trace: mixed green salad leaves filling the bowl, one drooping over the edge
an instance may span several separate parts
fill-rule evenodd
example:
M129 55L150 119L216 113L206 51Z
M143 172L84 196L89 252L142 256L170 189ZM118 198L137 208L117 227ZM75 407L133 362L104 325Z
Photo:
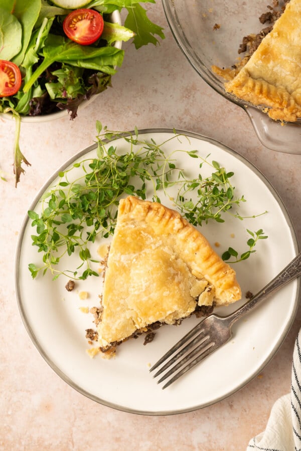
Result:
M20 90L0 97L0 113L12 113L20 121L22 116L66 109L74 119L79 105L110 86L116 68L121 67L124 51L114 47L114 42L132 39L139 49L165 38L163 29L147 18L141 3L146 0L92 0L85 8L103 15L104 31L94 44L81 46L63 32L64 18L71 10L50 0L0 0L0 60L15 63L22 74ZM109 15L122 9L127 12L124 26L111 24ZM22 163L29 164L20 150L19 137L20 123L14 148L16 186L24 172Z

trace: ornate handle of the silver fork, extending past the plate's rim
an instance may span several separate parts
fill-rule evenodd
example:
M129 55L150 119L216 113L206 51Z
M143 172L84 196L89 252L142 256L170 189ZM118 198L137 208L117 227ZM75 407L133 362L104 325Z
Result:
M273 280L271 280L271 282L262 288L262 290L252 296L249 301L227 317L229 327L231 327L232 324L244 314L252 310L256 305L260 304L268 296L300 275L301 253L299 253Z

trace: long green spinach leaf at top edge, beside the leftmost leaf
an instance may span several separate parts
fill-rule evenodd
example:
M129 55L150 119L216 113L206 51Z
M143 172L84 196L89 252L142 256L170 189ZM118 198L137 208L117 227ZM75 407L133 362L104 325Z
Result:
M41 0L31 0L30 2L27 0L15 1L14 16L19 20L23 29L21 51L12 60L17 66L20 66L23 61L40 10Z

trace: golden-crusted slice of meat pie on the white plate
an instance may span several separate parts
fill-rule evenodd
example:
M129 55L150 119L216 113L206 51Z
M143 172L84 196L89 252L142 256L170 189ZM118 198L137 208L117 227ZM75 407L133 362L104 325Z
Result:
M102 352L154 324L177 324L198 306L240 298L233 269L177 211L120 200L97 325Z

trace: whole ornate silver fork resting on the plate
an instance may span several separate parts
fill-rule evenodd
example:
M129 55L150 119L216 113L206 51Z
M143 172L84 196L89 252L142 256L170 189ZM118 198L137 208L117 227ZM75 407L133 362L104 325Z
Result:
M255 296L252 296L243 306L235 310L235 312L225 317L212 314L203 319L190 332L188 332L188 334L178 341L178 343L176 343L163 357L161 357L161 359L158 360L158 362L155 363L149 371L154 371L164 363L164 365L154 375L154 377L157 377L175 363L175 365L172 366L172 368L158 380L158 383L160 383L170 376L173 376L162 388L168 387L179 379L179 377L183 376L183 374L187 373L187 371L205 359L205 357L208 357L208 355L212 354L212 352L227 343L232 335L231 327L238 319L252 310L255 306L259 305L276 290L300 275L301 253L299 253L278 274L278 276L269 282ZM175 352L177 353L175 354ZM173 354L175 355L172 357ZM181 359L181 357L183 358ZM170 360L167 361L169 358Z

